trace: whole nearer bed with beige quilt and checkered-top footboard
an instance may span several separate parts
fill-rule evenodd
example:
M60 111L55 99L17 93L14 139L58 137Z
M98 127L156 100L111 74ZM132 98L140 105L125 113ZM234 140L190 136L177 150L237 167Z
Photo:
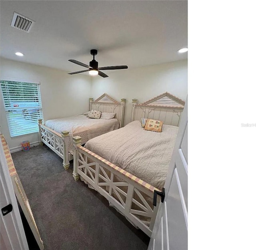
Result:
M184 101L164 93L137 105L131 123L90 139L73 137L73 177L108 199L134 226L151 236L157 209L154 191L162 190L178 133ZM163 121L162 132L146 131L141 118Z

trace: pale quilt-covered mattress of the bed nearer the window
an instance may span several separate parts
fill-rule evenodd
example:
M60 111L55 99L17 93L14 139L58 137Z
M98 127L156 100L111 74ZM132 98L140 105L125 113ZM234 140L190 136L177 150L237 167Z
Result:
M88 140L119 128L116 118L106 119L90 119L86 115L75 115L71 117L48 120L44 123L50 129L61 133L61 131L69 131L68 151L72 152L72 137L82 137L82 144Z

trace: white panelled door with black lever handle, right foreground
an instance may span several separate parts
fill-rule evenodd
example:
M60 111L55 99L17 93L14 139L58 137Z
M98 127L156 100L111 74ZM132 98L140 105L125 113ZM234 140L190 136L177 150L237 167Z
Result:
M188 98L148 250L188 249Z

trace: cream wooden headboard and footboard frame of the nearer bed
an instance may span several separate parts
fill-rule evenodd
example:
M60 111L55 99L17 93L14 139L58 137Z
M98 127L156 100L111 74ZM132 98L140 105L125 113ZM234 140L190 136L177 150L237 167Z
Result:
M133 99L132 121L144 117L161 119L164 124L176 126L179 125L185 104L167 92L139 105L136 103L137 99ZM82 147L81 137L73 137L73 143L74 179L78 181L80 177L102 194L134 226L151 236L160 198L157 198L154 208L152 200L154 190L160 190ZM148 217L149 224L146 224L141 216Z

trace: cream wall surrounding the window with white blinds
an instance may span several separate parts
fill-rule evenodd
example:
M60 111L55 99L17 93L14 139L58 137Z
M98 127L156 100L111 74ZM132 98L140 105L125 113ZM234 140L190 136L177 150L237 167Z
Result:
M16 62L1 58L2 77L40 81L44 120L76 115L89 110L91 77L68 75L66 71ZM9 148L20 146L22 141L38 141L38 134L10 137L4 104L1 97L0 125Z

